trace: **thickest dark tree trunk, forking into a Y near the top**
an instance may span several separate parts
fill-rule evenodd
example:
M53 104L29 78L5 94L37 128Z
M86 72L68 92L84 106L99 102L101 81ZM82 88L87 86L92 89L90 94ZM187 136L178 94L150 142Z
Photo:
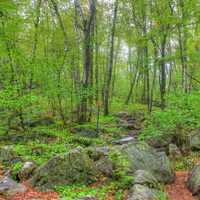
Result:
M75 9L82 18L81 29L83 31L83 80L82 80L82 95L80 103L80 122L90 120L91 116L88 113L88 102L91 103L92 94L91 84L93 82L93 34L94 34L94 21L96 15L96 0L89 1L89 16L87 18L83 14L82 7L79 0L75 0Z

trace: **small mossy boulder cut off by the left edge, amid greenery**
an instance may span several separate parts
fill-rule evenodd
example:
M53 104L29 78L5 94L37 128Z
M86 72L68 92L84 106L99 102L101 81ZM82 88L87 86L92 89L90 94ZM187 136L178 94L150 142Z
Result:
M0 148L0 162L15 162L19 161L17 153L13 150L11 145L3 146Z

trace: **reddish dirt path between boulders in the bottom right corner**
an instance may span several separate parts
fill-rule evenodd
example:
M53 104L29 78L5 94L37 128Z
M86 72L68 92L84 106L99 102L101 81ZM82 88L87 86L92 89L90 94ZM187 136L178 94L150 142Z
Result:
M169 200L197 200L186 187L187 178L188 172L176 172L175 183L166 188Z

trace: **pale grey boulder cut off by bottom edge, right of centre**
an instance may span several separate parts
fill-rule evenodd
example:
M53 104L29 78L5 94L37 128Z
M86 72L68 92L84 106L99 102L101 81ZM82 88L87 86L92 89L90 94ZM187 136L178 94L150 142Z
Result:
M147 186L136 184L129 193L127 200L156 200L158 199L157 191Z

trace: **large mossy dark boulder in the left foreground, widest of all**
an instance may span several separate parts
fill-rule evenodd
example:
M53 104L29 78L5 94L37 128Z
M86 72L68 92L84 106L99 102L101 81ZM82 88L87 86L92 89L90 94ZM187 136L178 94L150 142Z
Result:
M99 172L95 163L82 148L58 155L39 167L29 180L40 190L52 189L55 185L70 183L88 184L96 181Z

